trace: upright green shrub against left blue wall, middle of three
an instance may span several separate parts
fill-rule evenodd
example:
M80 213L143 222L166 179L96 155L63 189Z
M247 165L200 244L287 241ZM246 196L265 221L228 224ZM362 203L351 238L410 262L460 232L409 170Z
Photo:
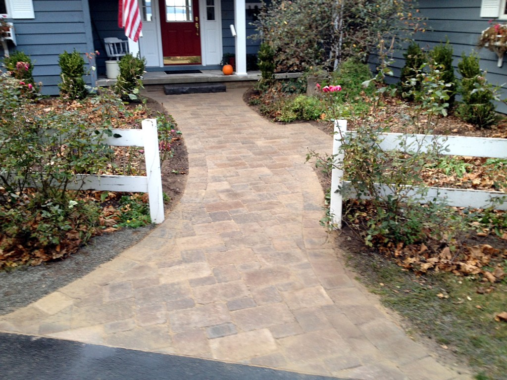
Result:
M64 99L84 99L88 95L83 75L85 74L85 60L79 52L64 51L59 55L58 65L61 69L60 95Z

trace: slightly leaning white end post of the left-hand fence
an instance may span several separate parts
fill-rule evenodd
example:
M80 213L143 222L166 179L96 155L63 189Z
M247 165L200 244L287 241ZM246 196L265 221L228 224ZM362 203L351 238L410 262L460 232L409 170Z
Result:
M146 159L146 175L148 177L150 216L152 223L159 224L164 221L164 200L162 196L157 121L155 119L145 119L142 121L141 126L144 132L144 157Z

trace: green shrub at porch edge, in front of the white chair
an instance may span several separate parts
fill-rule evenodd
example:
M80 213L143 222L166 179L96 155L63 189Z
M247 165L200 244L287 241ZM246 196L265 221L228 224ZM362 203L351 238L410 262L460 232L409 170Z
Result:
M137 100L137 94L142 88L141 78L146 67L146 59L141 59L139 54L134 57L129 53L120 59L118 65L120 66L120 74L116 79L113 91L122 100Z

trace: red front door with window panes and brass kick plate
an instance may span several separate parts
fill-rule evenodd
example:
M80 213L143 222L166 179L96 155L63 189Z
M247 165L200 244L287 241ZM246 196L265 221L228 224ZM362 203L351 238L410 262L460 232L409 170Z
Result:
M201 63L199 0L159 0L164 65Z

